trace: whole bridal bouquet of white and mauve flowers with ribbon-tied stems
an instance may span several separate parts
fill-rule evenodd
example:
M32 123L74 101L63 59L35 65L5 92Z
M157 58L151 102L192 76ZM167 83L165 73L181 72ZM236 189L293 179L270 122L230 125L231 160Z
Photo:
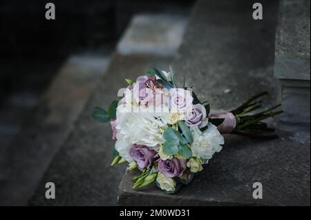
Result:
M201 102L191 88L176 86L174 72L156 67L135 81L125 79L128 86L119 91L121 99L112 101L104 110L95 107L92 117L110 122L115 140L111 165L129 163L128 170L139 169L133 188L156 182L166 193L187 185L194 174L203 170L225 143L226 133L254 138L276 138L262 135L274 132L263 119L282 111L261 108L266 92L257 94L230 112L210 114L207 101Z

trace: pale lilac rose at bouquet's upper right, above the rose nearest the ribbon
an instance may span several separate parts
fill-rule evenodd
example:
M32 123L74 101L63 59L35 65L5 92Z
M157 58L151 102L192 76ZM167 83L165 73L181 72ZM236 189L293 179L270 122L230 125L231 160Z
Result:
M192 101L194 98L191 96L189 90L182 88L172 88L169 90L169 109L171 112L187 112L192 108Z

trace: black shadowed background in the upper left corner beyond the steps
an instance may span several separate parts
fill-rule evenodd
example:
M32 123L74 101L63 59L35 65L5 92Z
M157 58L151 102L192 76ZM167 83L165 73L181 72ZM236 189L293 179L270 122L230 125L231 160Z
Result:
M56 19L46 20L45 5ZM184 12L193 1L0 1L0 107L10 94L40 94L68 54L113 50L133 14Z

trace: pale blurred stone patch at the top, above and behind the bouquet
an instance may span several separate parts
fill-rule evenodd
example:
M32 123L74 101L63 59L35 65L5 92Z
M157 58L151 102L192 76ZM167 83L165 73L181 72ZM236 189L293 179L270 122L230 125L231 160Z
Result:
M117 45L121 54L174 54L180 46L187 18L171 14L135 15Z

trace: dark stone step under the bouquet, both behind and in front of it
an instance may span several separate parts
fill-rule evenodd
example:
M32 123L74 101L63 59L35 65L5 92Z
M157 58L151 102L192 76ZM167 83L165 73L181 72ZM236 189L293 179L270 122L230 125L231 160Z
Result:
M185 30L176 74L185 74L200 100L230 110L267 90L276 103L273 77L278 1L261 1L263 20L252 19L250 1L197 1ZM228 92L230 91L230 92ZM275 123L275 122L274 122ZM303 205L310 206L310 130L278 131L280 139L256 141L225 136L216 154L189 186L164 194L155 184L133 190L135 172L126 171L118 194L122 206ZM253 183L263 199L253 199Z

